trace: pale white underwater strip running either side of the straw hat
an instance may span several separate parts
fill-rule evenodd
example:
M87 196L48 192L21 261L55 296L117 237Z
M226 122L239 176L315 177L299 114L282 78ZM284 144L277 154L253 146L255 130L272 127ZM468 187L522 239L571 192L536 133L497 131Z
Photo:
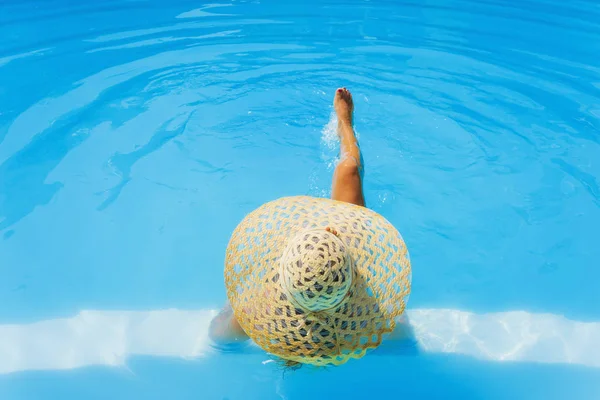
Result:
M82 311L72 318L0 325L0 373L124 366L132 356L215 357L216 310ZM511 311L409 310L373 356L454 353L486 361L600 368L600 322ZM414 346L413 346L414 344ZM243 351L242 351L243 350ZM244 352L261 352L249 343ZM265 361L268 355L265 354Z

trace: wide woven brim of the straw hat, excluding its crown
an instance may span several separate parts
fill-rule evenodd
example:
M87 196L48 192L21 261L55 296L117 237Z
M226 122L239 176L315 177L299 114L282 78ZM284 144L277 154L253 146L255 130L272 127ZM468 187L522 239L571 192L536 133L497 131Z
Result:
M297 310L281 288L279 259L300 231L331 227L347 245L355 282L338 307ZM227 296L244 331L265 351L315 365L342 364L377 347L404 311L411 266L402 236L365 207L309 196L262 205L234 230L225 260Z

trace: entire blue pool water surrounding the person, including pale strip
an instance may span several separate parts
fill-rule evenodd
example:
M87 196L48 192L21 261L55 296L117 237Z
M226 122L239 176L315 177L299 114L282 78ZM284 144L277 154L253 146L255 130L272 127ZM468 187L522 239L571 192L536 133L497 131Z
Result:
M0 2L0 399L600 398L600 6ZM214 349L229 234L328 196L355 96L409 339Z

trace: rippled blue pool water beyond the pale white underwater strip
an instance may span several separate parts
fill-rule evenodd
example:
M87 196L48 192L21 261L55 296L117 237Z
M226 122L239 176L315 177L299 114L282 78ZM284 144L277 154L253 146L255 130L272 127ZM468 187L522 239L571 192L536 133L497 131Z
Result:
M251 205L328 195L341 85L356 95L367 201L415 255L414 301L599 317L582 284L600 279L599 17L555 0L8 2L0 285L44 294L0 290L0 318L105 301L89 282L50 290L49 264L65 282L103 262L149 276L144 254L172 279L169 300L196 299L194 279L217 287L218 268L193 275L180 235L220 265L206 232L225 241ZM89 265L75 267L77 249ZM143 296L129 282L111 298L160 292L147 279Z

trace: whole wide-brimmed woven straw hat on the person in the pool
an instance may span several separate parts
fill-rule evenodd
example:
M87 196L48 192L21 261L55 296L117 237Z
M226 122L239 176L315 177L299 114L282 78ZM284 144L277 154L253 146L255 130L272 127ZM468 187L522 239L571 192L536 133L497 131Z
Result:
M225 261L227 296L248 336L278 357L319 366L377 347L404 311L410 280L406 245L385 218L307 196L247 215Z

